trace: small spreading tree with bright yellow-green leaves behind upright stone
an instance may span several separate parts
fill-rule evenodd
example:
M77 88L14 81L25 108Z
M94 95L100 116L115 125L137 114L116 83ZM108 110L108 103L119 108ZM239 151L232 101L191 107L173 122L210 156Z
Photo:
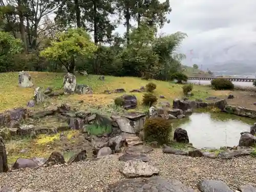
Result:
M69 29L56 35L56 39L51 41L51 46L42 50L40 56L60 62L68 72L74 73L77 59L93 57L96 49L87 32L80 28Z

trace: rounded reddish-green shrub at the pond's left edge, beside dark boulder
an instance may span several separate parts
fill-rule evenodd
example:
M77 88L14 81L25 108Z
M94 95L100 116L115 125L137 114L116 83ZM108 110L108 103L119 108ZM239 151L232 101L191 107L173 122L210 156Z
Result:
M150 118L146 120L143 131L145 141L167 144L172 133L172 122L161 117Z

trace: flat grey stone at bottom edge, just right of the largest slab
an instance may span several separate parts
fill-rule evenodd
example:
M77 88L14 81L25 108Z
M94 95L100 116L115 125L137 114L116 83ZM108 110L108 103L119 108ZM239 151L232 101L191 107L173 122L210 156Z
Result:
M202 180L197 184L201 192L232 192L232 190L220 180Z

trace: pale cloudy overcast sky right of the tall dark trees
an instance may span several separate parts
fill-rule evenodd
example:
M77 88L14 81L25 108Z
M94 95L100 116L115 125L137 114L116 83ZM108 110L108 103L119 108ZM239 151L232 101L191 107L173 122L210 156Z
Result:
M180 50L187 55L186 65L256 61L256 0L170 0L170 6L170 23L160 32L187 33Z

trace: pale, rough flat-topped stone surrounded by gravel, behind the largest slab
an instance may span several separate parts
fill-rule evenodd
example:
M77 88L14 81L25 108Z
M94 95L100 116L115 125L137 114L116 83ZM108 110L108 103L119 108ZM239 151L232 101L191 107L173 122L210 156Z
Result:
M159 169L143 161L122 161L119 171L127 178L150 177L159 174Z

